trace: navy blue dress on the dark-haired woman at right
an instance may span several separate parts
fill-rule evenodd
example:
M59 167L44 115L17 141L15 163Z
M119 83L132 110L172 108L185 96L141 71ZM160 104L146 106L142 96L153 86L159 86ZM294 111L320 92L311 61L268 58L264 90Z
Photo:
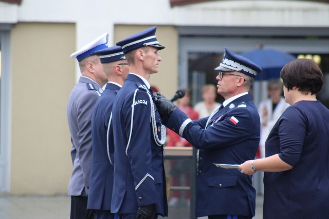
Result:
M329 217L329 110L319 101L288 107L265 143L293 169L264 174L263 218Z

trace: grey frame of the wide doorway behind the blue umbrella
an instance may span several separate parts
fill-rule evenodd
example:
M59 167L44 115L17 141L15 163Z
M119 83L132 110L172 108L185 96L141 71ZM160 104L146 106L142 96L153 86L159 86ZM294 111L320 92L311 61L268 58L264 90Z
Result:
M188 87L188 55L190 52L223 53L227 47L234 53L263 48L288 53L328 54L329 28L327 27L201 27L179 26L178 87ZM218 63L219 65L219 63ZM215 68L216 66L214 66ZM267 94L266 83L253 83L255 104L261 93ZM262 91L262 92L261 92Z

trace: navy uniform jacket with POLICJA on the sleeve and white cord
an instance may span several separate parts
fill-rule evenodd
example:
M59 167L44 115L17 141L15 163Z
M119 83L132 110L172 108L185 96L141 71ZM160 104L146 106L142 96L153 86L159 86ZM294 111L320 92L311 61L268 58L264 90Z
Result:
M156 106L152 96L141 78L129 74L113 105L114 213L136 214L139 206L156 204L157 214L168 215L163 151L155 142L155 134L160 136L161 118L155 111L154 132L151 105L155 110Z

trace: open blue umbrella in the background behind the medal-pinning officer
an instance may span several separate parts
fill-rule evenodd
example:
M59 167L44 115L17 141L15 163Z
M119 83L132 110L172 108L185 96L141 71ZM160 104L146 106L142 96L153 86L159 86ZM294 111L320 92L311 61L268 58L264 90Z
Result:
M279 78L283 66L296 59L294 55L275 49L255 49L240 55L248 58L263 69L262 73L255 77L255 80Z

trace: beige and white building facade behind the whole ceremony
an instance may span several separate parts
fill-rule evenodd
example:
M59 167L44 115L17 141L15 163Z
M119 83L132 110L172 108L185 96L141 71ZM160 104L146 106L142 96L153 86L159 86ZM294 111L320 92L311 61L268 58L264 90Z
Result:
M200 86L215 83L224 47L258 45L320 56L329 97L329 1L0 1L0 192L66 193L66 104L80 76L69 55L104 32L112 46L151 26L166 49L150 83L167 97L190 87L197 101Z

